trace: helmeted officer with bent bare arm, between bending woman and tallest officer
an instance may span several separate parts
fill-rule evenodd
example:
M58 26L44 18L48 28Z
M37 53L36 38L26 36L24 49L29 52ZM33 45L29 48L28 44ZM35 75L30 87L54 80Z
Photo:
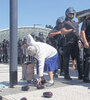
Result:
M51 45L55 47L58 50L59 53L59 58L60 58L60 68L61 68L61 73L63 73L63 34L66 34L68 32L71 32L72 29L70 30L62 30L63 27L63 22L64 18L59 17L56 20L56 26L50 31L48 37L51 41ZM62 30L62 31L61 31ZM54 76L58 77L58 71L54 71Z

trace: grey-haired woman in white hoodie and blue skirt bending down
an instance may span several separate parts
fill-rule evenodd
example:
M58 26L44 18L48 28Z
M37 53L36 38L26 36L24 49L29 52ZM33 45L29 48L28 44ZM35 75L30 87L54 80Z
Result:
M37 84L41 84L43 73L47 71L49 81L46 86L54 85L53 71L59 66L57 50L49 44L34 41L30 34L27 36L27 45L28 55L34 56L38 60L39 78Z

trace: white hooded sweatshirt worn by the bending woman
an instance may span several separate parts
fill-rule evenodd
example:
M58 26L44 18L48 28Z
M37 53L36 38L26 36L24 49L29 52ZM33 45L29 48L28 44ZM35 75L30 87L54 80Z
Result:
M37 53L34 56L39 62L39 76L43 76L45 60L57 54L57 50L49 44L43 42L36 42L29 34L27 36L27 44L33 45L37 48Z

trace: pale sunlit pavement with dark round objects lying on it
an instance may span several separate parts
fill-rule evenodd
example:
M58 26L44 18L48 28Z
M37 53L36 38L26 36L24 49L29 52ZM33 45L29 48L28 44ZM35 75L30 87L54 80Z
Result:
M3 100L20 100L26 97L27 100L90 100L90 83L84 83L78 80L77 70L73 71L70 67L70 75L72 80L65 80L63 76L54 78L54 85L38 90L33 84L29 84L28 91L22 91L21 87L27 85L27 81L22 80L22 67L18 66L18 84L14 88L9 87L9 65L0 64L0 84L5 85L3 90L0 90L0 96ZM48 79L47 73L44 73ZM35 72L35 78L37 78ZM43 97L43 92L51 91L51 98Z

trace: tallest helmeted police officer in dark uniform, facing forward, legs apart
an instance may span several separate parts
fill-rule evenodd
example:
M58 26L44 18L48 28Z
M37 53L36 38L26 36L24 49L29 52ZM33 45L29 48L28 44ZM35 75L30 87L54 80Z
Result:
M64 78L71 80L72 78L69 75L69 59L70 55L73 52L74 57L77 62L78 68L78 79L82 79L82 67L80 64L80 56L79 56L79 31L78 31L78 23L73 21L75 10L69 7L65 12L66 18L64 22L64 28L73 29L72 32L65 35L65 44L64 44Z

